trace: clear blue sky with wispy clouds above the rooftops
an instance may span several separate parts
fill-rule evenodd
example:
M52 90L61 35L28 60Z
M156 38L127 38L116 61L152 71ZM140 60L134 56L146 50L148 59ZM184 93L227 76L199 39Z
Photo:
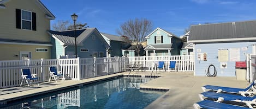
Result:
M163 28L183 35L189 25L256 20L255 0L181 0L181 1L96 1L96 0L41 0L58 20L88 23L100 32L115 34L120 24L134 18L147 18L153 29Z

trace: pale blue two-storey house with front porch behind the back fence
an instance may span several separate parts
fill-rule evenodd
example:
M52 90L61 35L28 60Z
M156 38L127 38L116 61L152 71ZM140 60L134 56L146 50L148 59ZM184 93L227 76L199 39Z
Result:
M147 37L146 56L180 55L182 40L161 28L152 31Z

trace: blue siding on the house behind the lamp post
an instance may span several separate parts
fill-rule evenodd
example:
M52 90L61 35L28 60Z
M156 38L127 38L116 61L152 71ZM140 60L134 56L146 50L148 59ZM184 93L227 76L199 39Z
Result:
M95 35L95 39L93 40L92 35ZM93 57L94 53L98 54L99 57L99 53L103 53L103 56L106 57L106 45L103 42L102 39L100 39L100 37L102 37L100 34L98 34L96 31L94 31L93 34L91 34L90 36L87 37L87 39L84 40L83 42L83 46L78 46L78 56L81 58L87 58L87 57ZM88 49L88 52L80 52L81 48L85 48ZM74 52L75 51L75 46L68 46L67 48L65 48L65 54L67 54L67 52Z

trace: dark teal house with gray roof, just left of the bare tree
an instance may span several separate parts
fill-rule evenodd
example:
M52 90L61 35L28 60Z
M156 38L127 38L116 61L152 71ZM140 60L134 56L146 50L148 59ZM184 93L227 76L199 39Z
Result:
M107 51L108 57L123 56L122 49L126 49L130 46L130 44L127 43L127 40L123 36L111 35L106 33L100 34L110 46Z

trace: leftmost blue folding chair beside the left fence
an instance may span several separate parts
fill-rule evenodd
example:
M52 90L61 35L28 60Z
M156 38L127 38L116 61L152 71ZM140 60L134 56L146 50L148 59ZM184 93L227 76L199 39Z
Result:
M38 80L38 78L36 77L37 74L31 74L30 69L21 69L21 82L20 82L20 86L22 86L23 81L25 80L27 85L30 86L32 84L33 80ZM37 81L37 85L38 81Z

